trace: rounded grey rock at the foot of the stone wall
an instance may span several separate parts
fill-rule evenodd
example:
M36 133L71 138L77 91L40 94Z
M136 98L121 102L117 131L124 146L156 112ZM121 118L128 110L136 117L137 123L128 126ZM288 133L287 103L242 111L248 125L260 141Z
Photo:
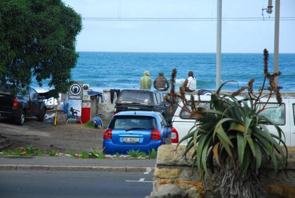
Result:
M165 184L159 188L159 191L152 192L149 198L187 198L187 195L178 186Z

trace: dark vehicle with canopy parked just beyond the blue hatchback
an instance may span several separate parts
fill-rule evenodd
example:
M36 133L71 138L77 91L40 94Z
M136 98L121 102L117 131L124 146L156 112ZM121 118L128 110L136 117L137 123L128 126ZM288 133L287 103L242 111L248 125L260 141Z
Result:
M122 90L116 100L114 114L120 111L157 111L170 122L170 104L166 92L149 90Z

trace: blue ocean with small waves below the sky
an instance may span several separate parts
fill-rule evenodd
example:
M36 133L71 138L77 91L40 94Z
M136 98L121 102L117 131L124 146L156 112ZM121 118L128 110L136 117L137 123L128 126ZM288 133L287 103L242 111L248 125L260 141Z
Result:
M155 53L155 52L78 52L77 65L72 69L72 78L89 84L90 89L139 89L139 80L145 70L151 73L152 81L160 71L167 79L176 68L176 90L194 72L197 89L215 90L215 53ZM273 54L269 54L269 71L273 71ZM279 85L283 92L295 91L295 54L279 54ZM235 80L223 90L237 90L254 79L254 91L262 85L263 53L222 53L222 81ZM46 90L46 81L39 88L36 81L32 87Z

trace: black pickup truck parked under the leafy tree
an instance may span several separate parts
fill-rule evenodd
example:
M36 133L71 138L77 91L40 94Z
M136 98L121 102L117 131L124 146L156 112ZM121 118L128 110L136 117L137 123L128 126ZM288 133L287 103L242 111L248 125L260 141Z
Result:
M46 105L33 88L25 95L11 94L11 86L0 86L0 116L13 117L15 123L23 125L25 117L36 116L40 122L46 113Z

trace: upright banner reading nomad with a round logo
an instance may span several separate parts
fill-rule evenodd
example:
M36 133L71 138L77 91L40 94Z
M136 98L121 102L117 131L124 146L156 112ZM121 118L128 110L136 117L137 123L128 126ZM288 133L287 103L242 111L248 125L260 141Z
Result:
M83 83L74 82L69 90L68 121L80 121L83 99Z

